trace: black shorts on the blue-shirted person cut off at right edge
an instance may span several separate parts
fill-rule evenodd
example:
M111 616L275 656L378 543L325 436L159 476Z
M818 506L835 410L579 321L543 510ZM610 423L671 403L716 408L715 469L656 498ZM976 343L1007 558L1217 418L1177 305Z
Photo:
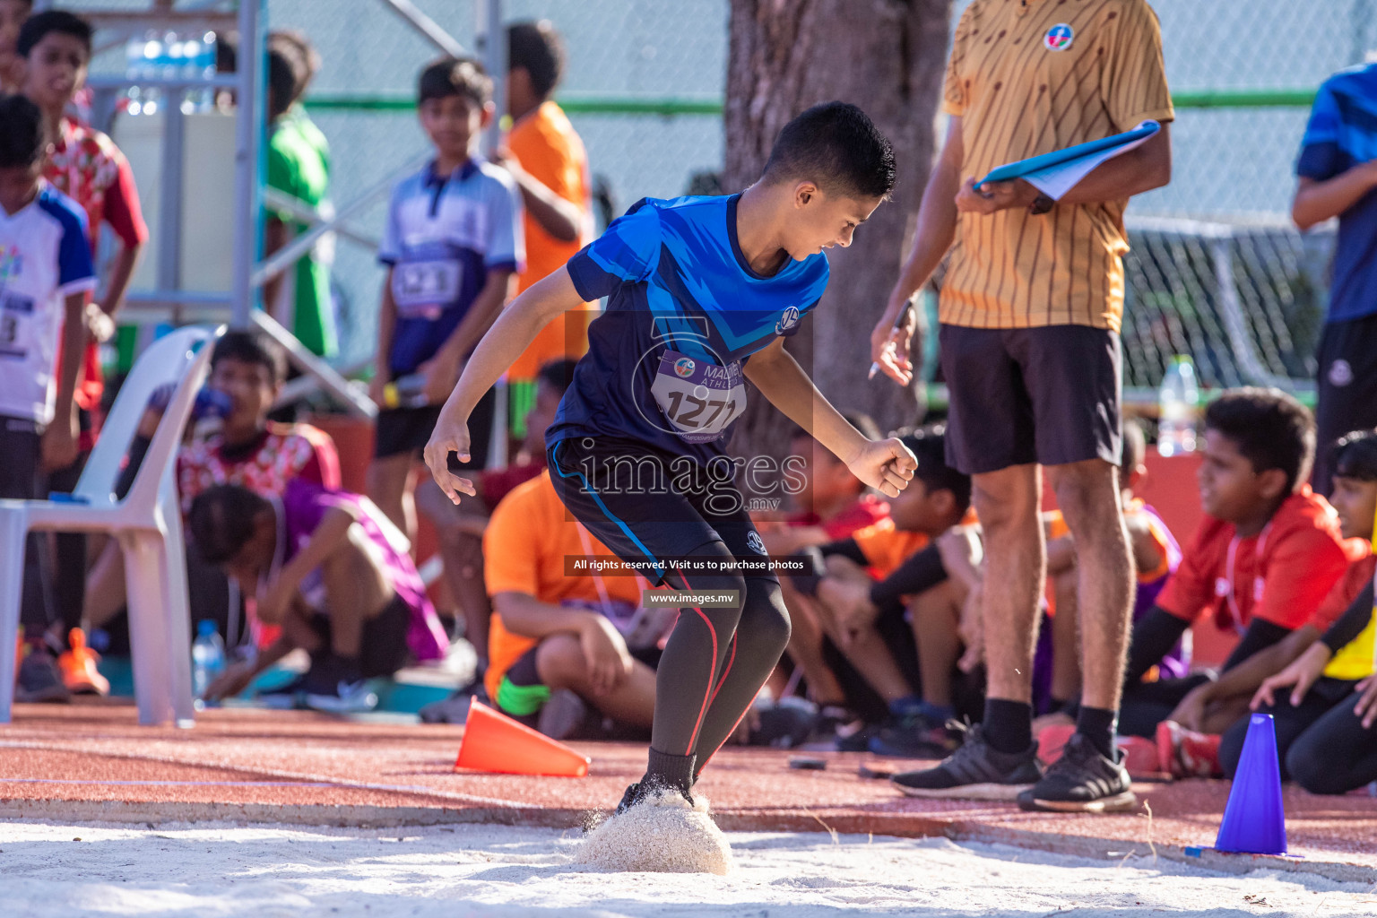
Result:
M1311 483L1329 494L1334 440L1377 427L1377 315L1330 322L1319 339L1315 380L1315 473Z

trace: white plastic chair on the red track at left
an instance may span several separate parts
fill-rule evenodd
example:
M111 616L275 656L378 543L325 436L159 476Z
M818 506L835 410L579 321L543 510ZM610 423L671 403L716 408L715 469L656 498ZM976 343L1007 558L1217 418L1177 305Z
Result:
M193 723L186 544L175 467L182 429L209 370L211 345L223 330L179 329L143 352L110 409L72 498L0 501L0 724L10 723L14 701L25 537L30 531L114 537L124 553L139 723ZM134 484L124 500L116 500L120 467L149 396L168 383L176 383L172 401Z

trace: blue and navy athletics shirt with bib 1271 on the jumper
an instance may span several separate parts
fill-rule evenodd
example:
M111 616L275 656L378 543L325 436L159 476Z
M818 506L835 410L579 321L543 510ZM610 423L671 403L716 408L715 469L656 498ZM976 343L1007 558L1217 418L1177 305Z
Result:
M607 308L547 442L611 436L701 464L723 454L745 410L742 362L796 333L828 286L821 253L752 271L738 197L642 200L569 260L578 295Z

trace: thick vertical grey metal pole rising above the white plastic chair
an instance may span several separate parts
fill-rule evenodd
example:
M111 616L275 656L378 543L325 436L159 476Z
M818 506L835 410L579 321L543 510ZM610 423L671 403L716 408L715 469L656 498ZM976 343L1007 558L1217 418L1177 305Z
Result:
M231 325L249 326L255 303L251 279L257 260L260 19L264 0L240 0L238 121L234 125L234 278Z

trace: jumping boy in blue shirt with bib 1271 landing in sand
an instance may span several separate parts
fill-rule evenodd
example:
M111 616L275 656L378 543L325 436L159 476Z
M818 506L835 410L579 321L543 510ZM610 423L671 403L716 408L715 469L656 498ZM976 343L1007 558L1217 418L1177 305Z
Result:
M545 434L551 480L573 516L654 585L712 593L680 603L655 680L646 776L621 807L690 791L731 735L789 640L779 582L735 487L789 483L766 457L728 457L745 380L890 497L917 462L898 439L870 440L784 350L828 282L822 249L850 245L894 186L894 151L861 109L814 106L779 132L761 179L730 197L643 200L569 263L522 293L464 367L425 446L441 490L459 502L482 392L552 318L607 297L588 329ZM858 359L861 359L858 356Z

